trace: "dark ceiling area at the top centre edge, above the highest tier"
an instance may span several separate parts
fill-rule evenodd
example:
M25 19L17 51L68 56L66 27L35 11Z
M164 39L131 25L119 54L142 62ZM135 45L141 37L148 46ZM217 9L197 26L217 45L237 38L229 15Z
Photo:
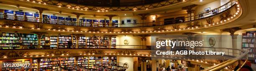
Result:
M157 3L165 0L59 0L68 3L92 6L133 6Z

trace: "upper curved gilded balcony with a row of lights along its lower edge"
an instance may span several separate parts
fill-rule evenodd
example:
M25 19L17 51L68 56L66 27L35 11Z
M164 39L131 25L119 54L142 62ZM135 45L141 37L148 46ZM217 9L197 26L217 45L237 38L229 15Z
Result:
M223 8L224 7L224 8ZM216 8L218 12L215 13L215 9L210 11L211 16L205 16L206 13L200 14L202 18L199 18L199 15L194 15L192 17L182 18L185 22L175 22L176 20L168 20L173 21L175 24L165 25L164 22L154 22L154 23L137 23L137 24L102 24L102 26L92 27L93 24L90 23L88 27L86 27L86 23L83 26L77 26L76 22L65 22L54 20L54 24L45 24L45 23L53 23L52 20L43 20L45 23L38 23L38 18L31 18L36 21L26 22L23 20L19 20L17 16L13 16L13 20L9 20L8 15L4 15L2 17L2 25L0 28L6 29L23 29L23 30L33 30L33 31L52 31L52 32L70 32L70 33L169 33L176 31L187 31L187 30L197 30L203 28L215 27L218 25L223 25L226 23L230 23L233 20L236 20L241 16L242 10L240 5L236 0L230 0L230 2L225 5ZM205 17L204 17L205 16ZM13 25L13 23L19 23L19 25ZM67 25L75 24L75 25ZM63 25L60 25L63 24ZM66 24L66 25L65 25ZM40 27L39 27L40 26ZM90 26L90 27L89 27ZM131 27L128 28L127 27ZM61 29L60 29L61 28Z

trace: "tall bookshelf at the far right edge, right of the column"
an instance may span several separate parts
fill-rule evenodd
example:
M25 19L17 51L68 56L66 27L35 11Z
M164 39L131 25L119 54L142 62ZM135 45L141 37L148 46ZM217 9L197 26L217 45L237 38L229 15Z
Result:
M256 63L256 31L247 31L243 33L242 49L249 50L248 58Z

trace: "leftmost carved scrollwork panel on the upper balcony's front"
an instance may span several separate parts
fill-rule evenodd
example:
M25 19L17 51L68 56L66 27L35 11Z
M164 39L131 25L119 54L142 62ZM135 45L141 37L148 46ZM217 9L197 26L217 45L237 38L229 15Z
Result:
M16 21L4 21L3 26L10 26L10 27L24 27L24 23L16 22Z

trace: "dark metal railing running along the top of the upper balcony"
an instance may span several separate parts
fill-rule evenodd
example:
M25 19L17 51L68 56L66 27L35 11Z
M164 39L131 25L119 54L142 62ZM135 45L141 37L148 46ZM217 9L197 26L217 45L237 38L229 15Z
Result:
M16 14L9 14L9 13L0 13L0 19L8 19L8 20L20 20L20 21L29 21L29 22L37 22L37 23L49 23L49 24L59 24L59 25L75 25L75 26L84 26L84 27L143 27L143 26L157 26L157 25L169 25L169 24L177 24L177 23L184 23L189 22L193 20L199 20L202 18L207 18L213 15L216 15L218 13L222 13L225 10L230 9L233 5L236 5L237 0L230 0L228 3L209 10L207 12L202 12L199 15L193 15L189 17L184 18L178 18L174 20L165 20L165 21L159 21L159 22L151 22L151 23L109 23L109 22L88 22L88 21L82 21L85 19L80 19L77 23L76 20L59 20L59 19L51 19L51 18L37 18L37 17L28 17L24 15L16 15ZM41 21L41 22L39 22ZM112 21L112 20L110 20Z

